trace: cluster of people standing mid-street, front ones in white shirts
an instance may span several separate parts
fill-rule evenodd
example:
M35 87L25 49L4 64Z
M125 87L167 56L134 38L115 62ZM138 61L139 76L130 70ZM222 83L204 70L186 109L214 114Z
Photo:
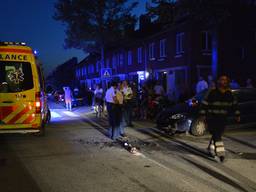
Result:
M93 106L106 105L111 127L109 135L112 139L125 136L124 127L133 127L133 117L153 118L166 96L160 82L144 84L141 90L132 85L126 80L113 81L105 94L100 85L94 90Z

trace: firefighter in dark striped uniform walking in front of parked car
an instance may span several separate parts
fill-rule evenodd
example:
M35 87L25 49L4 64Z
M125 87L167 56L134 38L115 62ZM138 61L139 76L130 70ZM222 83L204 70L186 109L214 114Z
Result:
M225 148L222 141L227 116L234 113L237 122L240 122L240 111L237 108L237 100L231 92L230 80L223 75L218 80L215 89L210 89L202 101L200 114L206 120L212 138L208 151L223 162L225 159Z

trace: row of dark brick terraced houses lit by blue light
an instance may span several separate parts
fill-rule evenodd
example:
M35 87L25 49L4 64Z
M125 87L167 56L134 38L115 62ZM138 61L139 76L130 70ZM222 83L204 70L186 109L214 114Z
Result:
M113 79L126 79L138 85L155 79L167 92L178 95L191 93L199 76L207 78L216 69L218 74L228 74L241 83L246 78L253 79L256 76L253 16L253 12L232 16L216 29L216 41L212 41L212 30L189 19L160 27L142 16L140 27L131 38L106 47L104 66L95 54L78 63L77 81L80 86L92 88Z

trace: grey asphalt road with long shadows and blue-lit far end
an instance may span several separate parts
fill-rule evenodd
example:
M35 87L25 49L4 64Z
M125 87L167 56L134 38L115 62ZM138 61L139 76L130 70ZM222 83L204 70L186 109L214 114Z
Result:
M0 191L256 191L256 127L227 131L228 159L219 163L206 152L207 135L134 124L126 133L136 155L106 136L106 118L52 105L46 136L0 135Z

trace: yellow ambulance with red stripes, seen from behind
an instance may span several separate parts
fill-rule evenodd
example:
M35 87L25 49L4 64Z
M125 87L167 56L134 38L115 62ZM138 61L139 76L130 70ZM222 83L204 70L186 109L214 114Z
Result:
M0 42L0 133L44 135L49 121L44 79L25 43Z

